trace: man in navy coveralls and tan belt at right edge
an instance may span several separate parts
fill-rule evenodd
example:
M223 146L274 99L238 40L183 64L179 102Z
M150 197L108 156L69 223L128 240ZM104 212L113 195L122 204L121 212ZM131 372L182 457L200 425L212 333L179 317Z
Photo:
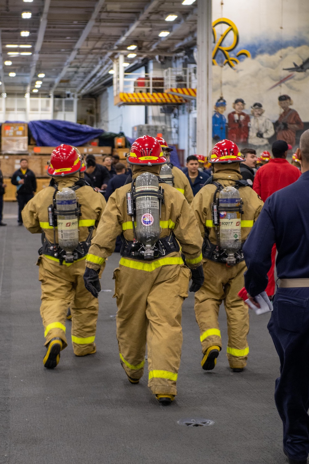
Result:
M277 246L278 290L268 330L280 358L275 401L283 422L284 454L305 464L309 453L309 130L297 157L302 175L266 201L246 239L245 287L251 297L265 290L271 248Z

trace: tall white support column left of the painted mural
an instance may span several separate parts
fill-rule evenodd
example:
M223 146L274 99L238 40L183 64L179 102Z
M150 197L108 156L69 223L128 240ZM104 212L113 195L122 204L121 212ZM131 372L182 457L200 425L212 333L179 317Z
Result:
M197 134L196 152L208 155L212 146L212 0L198 1L197 14Z

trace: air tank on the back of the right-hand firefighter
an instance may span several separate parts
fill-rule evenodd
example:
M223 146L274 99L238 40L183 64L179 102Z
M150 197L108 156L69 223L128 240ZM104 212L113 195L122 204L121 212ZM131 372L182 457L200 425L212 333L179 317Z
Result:
M241 247L241 198L235 187L219 194L220 247L227 253L227 265L236 263L234 253Z

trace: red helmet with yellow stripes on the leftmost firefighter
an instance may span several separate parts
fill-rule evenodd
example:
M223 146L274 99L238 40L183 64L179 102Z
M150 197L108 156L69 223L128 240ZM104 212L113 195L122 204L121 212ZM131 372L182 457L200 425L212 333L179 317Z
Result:
M50 176L66 176L78 171L84 172L86 164L77 148L71 145L59 145L50 155L47 174Z

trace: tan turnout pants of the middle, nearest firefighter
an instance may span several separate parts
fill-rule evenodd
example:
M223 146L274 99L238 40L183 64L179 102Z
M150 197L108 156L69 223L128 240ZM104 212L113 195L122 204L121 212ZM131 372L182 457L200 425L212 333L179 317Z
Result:
M124 261L145 267L144 263ZM140 379L147 342L148 387L155 394L177 394L183 343L181 310L189 278L189 269L179 264L161 265L153 271L120 265L114 271L120 362L129 377Z

